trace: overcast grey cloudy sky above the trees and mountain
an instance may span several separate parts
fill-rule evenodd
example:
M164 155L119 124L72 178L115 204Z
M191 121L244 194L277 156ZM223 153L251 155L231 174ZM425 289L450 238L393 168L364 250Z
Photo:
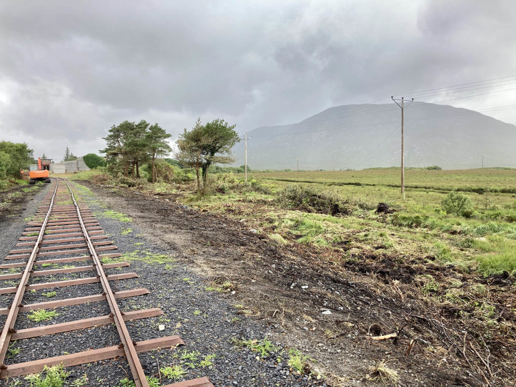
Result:
M415 96L516 124L514 20L512 0L2 0L0 139L59 161L125 119L244 131L464 84Z

